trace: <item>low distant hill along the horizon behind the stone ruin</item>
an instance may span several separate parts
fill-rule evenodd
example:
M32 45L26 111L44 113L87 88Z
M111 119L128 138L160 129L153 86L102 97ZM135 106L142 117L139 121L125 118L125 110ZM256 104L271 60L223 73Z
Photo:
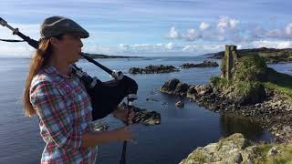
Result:
M292 62L292 48L276 49L276 48L253 48L253 49L238 49L239 56L245 55L259 55L263 56L266 63L287 63ZM224 51L214 53L208 58L222 59L224 57Z

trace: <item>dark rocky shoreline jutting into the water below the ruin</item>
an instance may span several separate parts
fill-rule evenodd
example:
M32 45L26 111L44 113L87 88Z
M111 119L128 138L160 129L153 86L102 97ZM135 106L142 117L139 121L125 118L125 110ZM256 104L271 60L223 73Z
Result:
M245 116L258 120L258 124L270 131L279 141L292 141L292 107L287 98L276 91L266 91L266 100L254 105L240 105L211 84L188 85L179 79L167 81L160 91L188 97L190 101L214 112Z

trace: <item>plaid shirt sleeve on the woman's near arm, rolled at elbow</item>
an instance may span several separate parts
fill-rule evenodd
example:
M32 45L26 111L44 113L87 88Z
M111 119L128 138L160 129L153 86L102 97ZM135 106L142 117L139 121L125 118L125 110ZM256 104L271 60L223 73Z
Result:
M80 148L82 131L70 122L66 102L57 87L48 81L36 82L30 89L30 102L57 147Z

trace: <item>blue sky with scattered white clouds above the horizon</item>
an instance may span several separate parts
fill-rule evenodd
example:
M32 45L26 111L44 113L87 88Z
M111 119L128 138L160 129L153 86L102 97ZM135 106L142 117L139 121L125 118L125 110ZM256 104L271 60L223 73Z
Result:
M292 47L288 0L1 0L0 17L39 38L45 18L61 15L89 31L83 52L197 56L224 50ZM19 39L0 26L0 38ZM1 56L31 56L26 43L0 42Z

